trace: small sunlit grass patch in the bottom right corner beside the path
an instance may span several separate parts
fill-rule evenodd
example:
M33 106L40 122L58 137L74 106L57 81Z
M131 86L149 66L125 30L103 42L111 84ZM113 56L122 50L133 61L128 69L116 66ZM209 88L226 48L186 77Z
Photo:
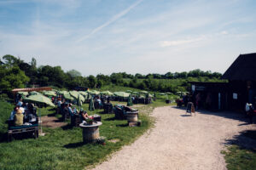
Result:
M256 169L256 152L245 150L238 145L231 145L222 151L229 170L253 170Z

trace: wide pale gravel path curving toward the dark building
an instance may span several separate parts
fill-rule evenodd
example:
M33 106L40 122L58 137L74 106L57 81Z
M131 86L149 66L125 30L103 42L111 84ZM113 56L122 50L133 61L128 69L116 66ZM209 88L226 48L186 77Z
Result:
M204 111L196 116L185 113L170 106L155 109L155 127L95 169L222 170L226 169L220 154L225 139L242 130L256 129L231 112Z

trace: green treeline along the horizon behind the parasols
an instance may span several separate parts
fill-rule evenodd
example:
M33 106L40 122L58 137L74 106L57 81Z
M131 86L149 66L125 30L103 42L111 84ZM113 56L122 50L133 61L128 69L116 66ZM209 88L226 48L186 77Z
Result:
M83 77L79 71L63 71L61 66L37 66L37 60L26 63L13 55L4 55L0 59L0 89L9 93L13 88L31 87L33 84L54 86L56 88L102 88L106 85L119 85L152 91L175 92L188 88L188 81L218 82L222 75L218 72L194 71L167 72L164 75L136 75L125 72L113 73L110 76L98 74Z

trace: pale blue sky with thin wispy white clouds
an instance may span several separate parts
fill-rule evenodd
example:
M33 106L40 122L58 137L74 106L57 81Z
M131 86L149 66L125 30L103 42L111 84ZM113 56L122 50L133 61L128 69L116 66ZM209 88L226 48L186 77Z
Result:
M0 0L0 56L83 76L224 73L256 52L254 0Z

